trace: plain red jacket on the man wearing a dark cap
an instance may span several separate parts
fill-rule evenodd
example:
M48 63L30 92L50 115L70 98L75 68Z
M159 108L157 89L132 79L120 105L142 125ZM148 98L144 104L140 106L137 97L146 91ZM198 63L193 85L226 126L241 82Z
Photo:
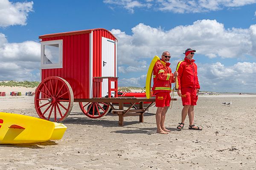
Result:
M181 88L192 87L200 89L200 85L198 82L197 76L197 65L195 64L195 60L191 61L184 58L183 61L178 62L177 65L178 82L179 82L179 90Z

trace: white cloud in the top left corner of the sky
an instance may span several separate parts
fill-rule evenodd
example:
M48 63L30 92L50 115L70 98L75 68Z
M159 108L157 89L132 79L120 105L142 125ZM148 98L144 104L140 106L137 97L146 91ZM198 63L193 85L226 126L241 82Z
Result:
M28 13L33 11L33 1L11 3L0 0L0 27L26 25Z

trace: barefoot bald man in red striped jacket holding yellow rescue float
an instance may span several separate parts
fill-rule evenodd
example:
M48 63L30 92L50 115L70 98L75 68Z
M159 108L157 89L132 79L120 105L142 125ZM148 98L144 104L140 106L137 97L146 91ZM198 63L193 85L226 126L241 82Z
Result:
M166 111L170 106L172 89L172 82L175 82L175 78L178 76L177 71L172 74L172 69L169 68L169 60L171 55L168 51L164 51L160 60L156 62L153 69L153 94L156 95L156 122L157 133L167 134L170 130L164 126L166 118Z

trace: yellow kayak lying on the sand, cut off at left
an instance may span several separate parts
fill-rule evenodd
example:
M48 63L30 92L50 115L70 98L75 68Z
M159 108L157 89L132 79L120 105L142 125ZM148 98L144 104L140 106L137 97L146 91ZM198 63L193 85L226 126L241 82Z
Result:
M0 112L0 144L59 140L67 127L62 123L15 113Z

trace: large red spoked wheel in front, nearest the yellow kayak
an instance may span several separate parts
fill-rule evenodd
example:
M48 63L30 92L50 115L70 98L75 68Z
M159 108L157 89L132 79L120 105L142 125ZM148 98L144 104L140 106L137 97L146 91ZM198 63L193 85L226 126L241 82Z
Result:
M59 122L73 108L74 95L70 84L61 77L44 79L35 91L35 110L41 119Z

